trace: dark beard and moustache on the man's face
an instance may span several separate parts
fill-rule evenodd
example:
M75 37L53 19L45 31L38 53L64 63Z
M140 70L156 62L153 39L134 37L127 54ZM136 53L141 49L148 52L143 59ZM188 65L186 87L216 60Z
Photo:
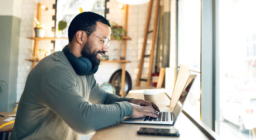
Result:
M90 43L89 40L87 40L81 53L83 57L88 58L91 61L92 66L99 66L100 59L97 58L97 55L98 55L97 53L105 54L105 51L93 51L92 44Z

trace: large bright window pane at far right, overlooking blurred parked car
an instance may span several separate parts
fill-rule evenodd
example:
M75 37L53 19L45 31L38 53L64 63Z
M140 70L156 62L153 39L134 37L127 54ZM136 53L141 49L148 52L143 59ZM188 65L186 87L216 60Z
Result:
M252 139L256 128L256 1L219 0L220 137ZM228 99L237 95L237 103Z

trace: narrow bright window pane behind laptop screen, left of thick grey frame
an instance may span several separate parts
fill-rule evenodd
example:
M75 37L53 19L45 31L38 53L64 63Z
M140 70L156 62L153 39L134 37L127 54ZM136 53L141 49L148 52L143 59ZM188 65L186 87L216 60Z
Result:
M189 66L196 74L184 110L200 120L201 0L178 1L178 66Z

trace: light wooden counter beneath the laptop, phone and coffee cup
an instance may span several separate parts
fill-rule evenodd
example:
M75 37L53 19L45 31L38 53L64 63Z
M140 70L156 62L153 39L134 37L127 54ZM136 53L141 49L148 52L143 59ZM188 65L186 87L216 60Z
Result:
M143 93L129 93L127 97L133 97L137 99L143 99ZM172 111L173 108L167 107L170 104L170 98L165 93L159 93L157 105L160 111ZM139 127L150 128L175 128L179 129L180 136L154 136L154 135L138 135L137 129ZM192 121L188 119L184 113L180 113L178 120L174 125L156 125L156 124L134 124L134 123L121 123L116 125L102 128L96 131L91 140L188 140L188 139L200 139L209 140L210 138L203 133Z

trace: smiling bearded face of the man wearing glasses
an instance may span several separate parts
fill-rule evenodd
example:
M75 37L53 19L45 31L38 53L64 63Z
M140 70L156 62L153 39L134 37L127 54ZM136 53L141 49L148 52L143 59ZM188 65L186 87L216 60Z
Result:
M108 42L110 41L111 29L108 25L97 22L96 30L92 34L88 37L81 54L88 58L92 65L98 66L100 65L101 56L108 52L107 45L103 46L103 41L106 37L108 37Z

